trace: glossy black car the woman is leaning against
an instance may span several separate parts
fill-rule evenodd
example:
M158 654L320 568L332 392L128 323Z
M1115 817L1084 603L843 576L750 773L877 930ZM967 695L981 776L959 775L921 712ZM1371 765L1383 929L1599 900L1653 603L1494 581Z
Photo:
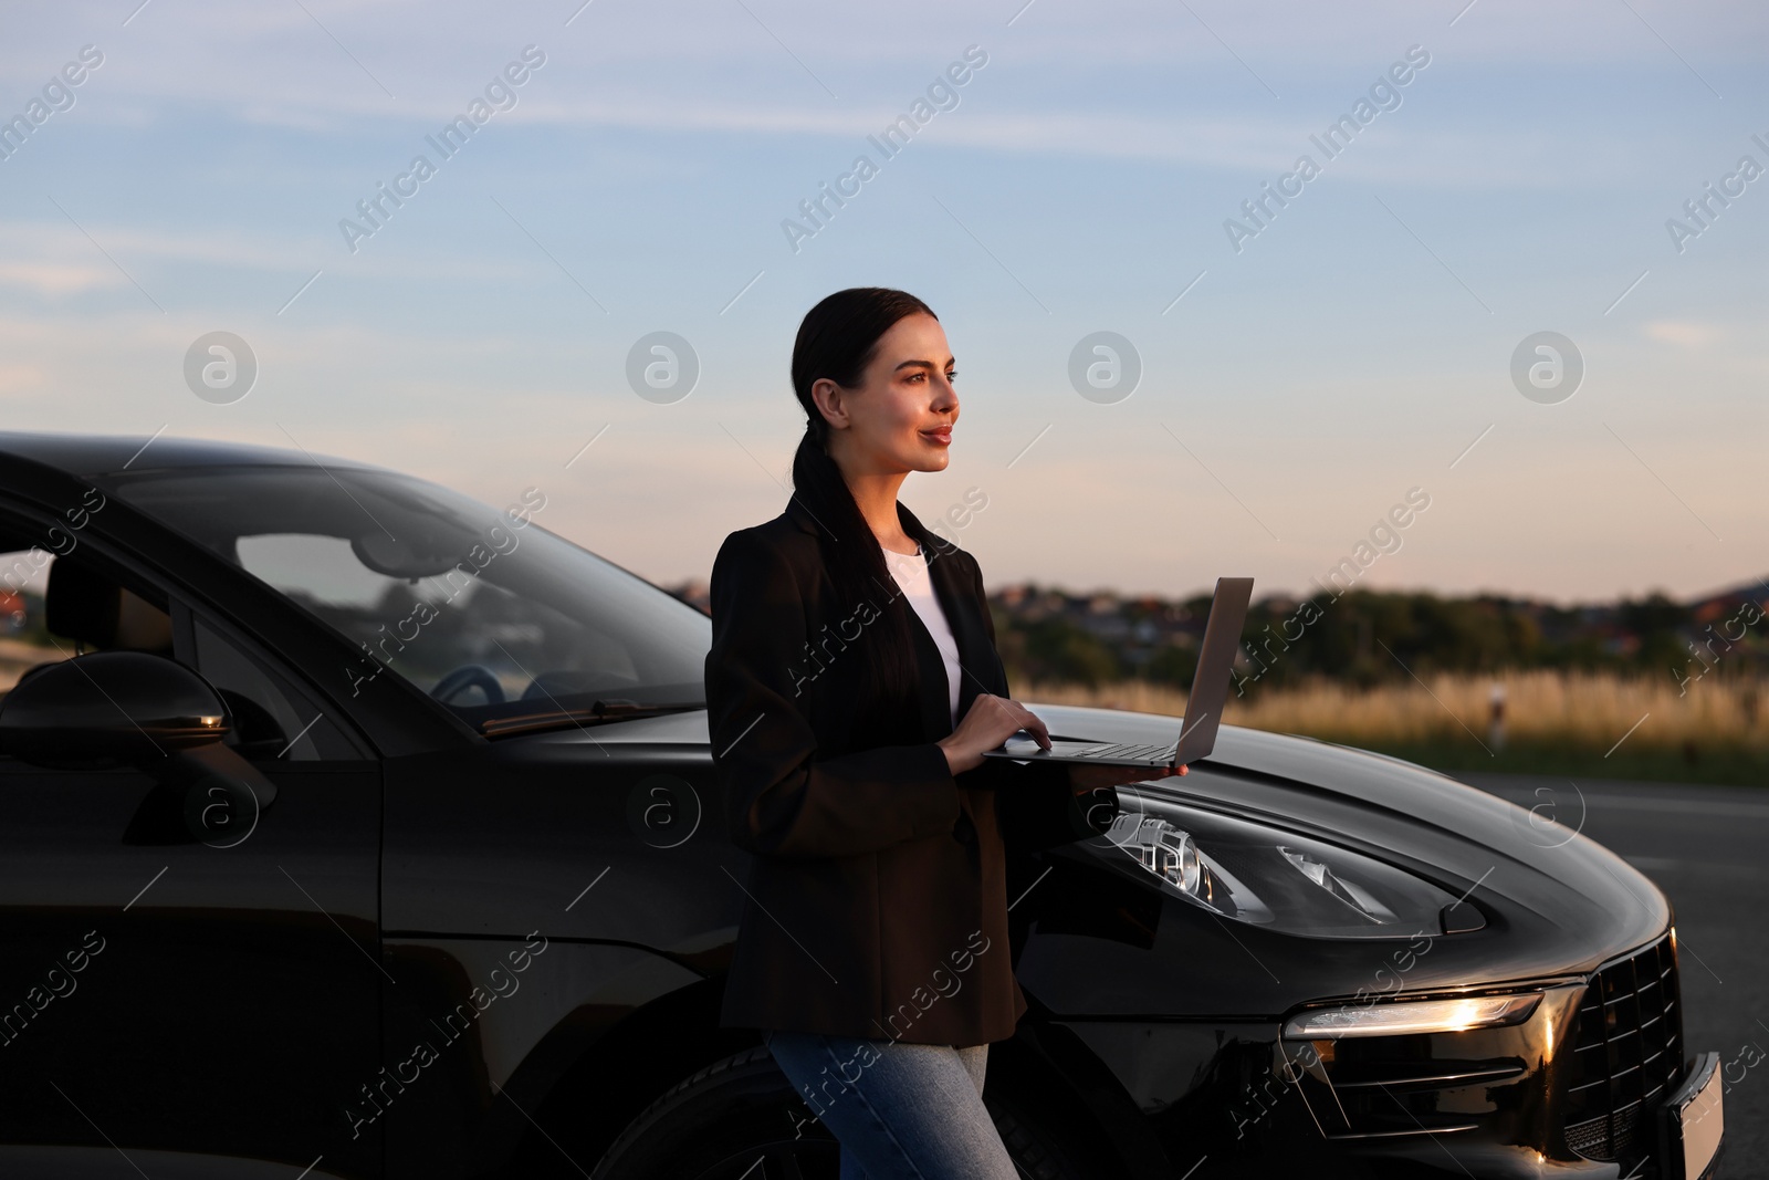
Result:
M0 1175L835 1175L716 1023L708 619L547 504L0 433ZM1099 830L1010 862L1024 1175L1711 1175L1670 906L1589 839L1235 727Z

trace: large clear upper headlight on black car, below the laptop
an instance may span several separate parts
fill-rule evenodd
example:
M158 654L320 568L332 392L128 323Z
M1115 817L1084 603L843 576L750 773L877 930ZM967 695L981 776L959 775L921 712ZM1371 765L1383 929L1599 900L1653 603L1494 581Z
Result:
M1403 869L1314 837L1118 787L1090 853L1222 918L1321 938L1440 934L1458 899Z

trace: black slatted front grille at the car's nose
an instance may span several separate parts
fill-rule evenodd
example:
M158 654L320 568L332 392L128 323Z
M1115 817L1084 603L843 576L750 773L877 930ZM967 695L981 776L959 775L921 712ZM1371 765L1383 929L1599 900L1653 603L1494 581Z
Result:
M1597 969L1578 1008L1566 1145L1587 1159L1638 1162L1645 1118L1682 1070L1682 1005L1670 936Z

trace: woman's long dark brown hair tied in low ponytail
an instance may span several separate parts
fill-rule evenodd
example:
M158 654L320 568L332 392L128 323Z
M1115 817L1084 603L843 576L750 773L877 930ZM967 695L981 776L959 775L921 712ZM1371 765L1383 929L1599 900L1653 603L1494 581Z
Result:
M793 343L793 391L805 409L805 437L793 456L793 497L817 522L817 543L823 564L835 586L837 617L851 616L863 601L872 601L881 617L867 626L860 639L862 656L869 674L863 704L902 702L916 690L915 651L909 632L907 603L872 525L860 515L842 469L830 458L830 423L824 419L810 387L828 377L844 389L853 389L865 379L865 370L877 356L879 338L909 315L932 315L932 308L909 292L888 287L851 287L823 299L805 313ZM936 556L934 538L907 511L904 531L922 543L929 559Z

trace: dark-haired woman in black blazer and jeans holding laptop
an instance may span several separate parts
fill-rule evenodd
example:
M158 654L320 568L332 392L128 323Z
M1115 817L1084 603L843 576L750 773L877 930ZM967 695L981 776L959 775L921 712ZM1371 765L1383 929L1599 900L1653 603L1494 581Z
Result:
M713 563L711 739L752 853L720 1023L764 1031L844 1180L1014 1180L982 1104L989 1042L1026 1010L1005 840L1099 833L1077 791L1129 775L984 759L1049 734L1008 697L976 561L897 502L911 471L946 467L953 377L915 295L812 308L794 494Z

